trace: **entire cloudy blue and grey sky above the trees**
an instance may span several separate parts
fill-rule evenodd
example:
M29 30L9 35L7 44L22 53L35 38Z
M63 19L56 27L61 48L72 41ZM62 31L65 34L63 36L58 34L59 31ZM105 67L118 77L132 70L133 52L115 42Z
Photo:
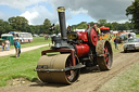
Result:
M134 0L0 0L0 19L24 16L29 25L41 25L46 18L58 24L58 6L64 6L66 26L80 22L108 22L125 23L127 6Z

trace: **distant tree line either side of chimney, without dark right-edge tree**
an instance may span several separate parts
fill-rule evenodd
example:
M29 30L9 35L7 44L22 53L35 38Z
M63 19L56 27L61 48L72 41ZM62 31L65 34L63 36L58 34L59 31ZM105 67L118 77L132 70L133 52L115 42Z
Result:
M106 19L99 19L98 23L87 23L81 22L77 25L72 25L72 30L74 29L86 29L87 24L93 26L93 24L98 24L98 26L106 26L110 27L111 30L130 30L134 29L134 25L129 22L124 24L119 23L108 23ZM31 34L59 34L60 26L55 25L54 30L49 30L51 27L51 22L46 18L43 25L28 25L28 21L23 16L10 17L8 22L0 19L0 35L10 32L10 31L24 31L24 32L31 32Z

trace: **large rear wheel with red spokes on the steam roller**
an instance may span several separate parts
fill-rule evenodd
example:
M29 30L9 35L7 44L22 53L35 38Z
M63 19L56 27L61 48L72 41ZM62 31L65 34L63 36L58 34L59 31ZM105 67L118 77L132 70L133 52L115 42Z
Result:
M109 70L112 68L113 52L109 41L100 40L97 44L97 63L101 70Z

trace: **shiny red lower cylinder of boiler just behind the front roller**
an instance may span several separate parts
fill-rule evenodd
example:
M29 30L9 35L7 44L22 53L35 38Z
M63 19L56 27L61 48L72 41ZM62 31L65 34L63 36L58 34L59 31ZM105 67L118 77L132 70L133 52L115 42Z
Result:
M77 56L85 56L89 52L89 45L88 44L76 44L76 50L77 50Z

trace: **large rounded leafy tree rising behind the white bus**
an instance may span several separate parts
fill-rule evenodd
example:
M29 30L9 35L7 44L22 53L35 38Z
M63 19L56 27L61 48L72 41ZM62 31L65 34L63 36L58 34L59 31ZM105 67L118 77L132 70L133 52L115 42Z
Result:
M28 21L23 16L10 17L9 23L13 31L27 31Z

